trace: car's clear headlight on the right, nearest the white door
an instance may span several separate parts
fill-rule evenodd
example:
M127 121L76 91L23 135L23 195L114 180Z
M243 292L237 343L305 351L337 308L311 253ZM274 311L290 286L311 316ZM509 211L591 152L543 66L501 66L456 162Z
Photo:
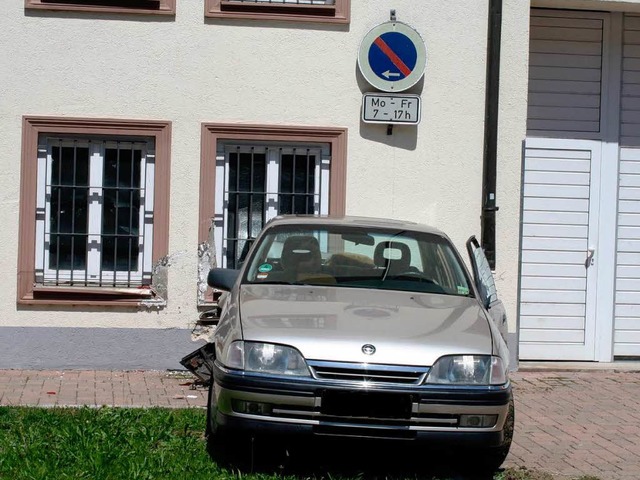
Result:
M507 383L507 371L500 357L450 355L441 357L434 363L426 383L504 385Z

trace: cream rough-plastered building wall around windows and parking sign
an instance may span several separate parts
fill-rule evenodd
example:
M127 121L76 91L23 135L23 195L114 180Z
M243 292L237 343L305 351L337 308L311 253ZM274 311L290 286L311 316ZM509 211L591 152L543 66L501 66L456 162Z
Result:
M349 129L347 213L429 223L459 248L479 235L487 0L352 0L349 26L25 13L0 17L0 326L186 328L196 318L201 122ZM506 0L498 174L498 288L515 325L520 142L526 118L528 2ZM413 25L427 46L422 123L360 123L356 57L369 29ZM523 56L524 55L524 56ZM506 70L506 71L505 71ZM420 88L412 91L420 92ZM169 303L159 312L16 306L22 115L173 122ZM71 310L71 311L70 311ZM46 314L43 314L46 311Z

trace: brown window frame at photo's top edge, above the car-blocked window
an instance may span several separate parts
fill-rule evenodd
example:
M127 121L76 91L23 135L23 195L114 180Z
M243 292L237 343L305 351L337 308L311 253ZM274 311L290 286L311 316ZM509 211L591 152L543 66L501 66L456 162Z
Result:
M350 21L351 0L335 0L333 5L240 3L228 0L205 0L204 8L204 15L208 18L348 24Z

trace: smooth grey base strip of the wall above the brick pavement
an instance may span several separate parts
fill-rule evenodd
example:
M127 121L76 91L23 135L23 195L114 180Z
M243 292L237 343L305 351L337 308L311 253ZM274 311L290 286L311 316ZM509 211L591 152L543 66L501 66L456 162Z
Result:
M180 359L203 344L187 329L0 327L0 368L183 369Z

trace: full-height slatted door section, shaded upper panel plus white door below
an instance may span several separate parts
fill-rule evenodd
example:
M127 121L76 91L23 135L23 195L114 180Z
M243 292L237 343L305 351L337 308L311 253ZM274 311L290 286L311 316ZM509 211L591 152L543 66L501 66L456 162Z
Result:
M520 358L595 356L602 65L607 15L532 10Z

